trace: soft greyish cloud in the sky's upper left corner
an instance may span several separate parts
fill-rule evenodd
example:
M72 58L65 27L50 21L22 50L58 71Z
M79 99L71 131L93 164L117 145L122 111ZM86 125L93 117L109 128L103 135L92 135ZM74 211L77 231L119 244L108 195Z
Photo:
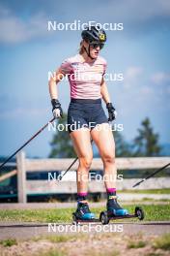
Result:
M0 42L20 43L47 33L46 18L40 13L23 20L14 16L11 10L1 6L0 11Z

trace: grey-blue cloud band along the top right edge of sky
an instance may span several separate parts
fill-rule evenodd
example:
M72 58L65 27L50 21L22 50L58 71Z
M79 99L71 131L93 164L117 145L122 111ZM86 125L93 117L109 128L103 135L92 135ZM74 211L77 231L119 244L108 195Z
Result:
M153 18L160 18L170 16L170 1L168 0L122 0L102 2L95 8L96 14L103 14L106 20L113 20L119 22L148 22ZM81 12L81 11L80 11ZM87 17L95 16L94 9L90 9ZM101 17L101 18L102 18Z

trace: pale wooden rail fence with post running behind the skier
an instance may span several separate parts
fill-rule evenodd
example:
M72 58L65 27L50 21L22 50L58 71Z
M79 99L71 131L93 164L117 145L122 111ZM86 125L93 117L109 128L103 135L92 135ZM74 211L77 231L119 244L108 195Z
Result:
M64 172L71 165L73 158L64 159L28 159L23 151L16 155L16 170L9 174L0 176L0 181L10 176L17 175L17 192L18 202L26 203L27 194L41 193L75 193L76 183L74 181L62 180L55 178L49 180L26 180L26 172ZM136 170L136 169L158 169L170 162L170 157L133 157L117 158L116 165L118 170ZM71 171L76 171L78 161L71 167ZM103 170L101 159L94 158L91 170ZM71 172L72 173L72 172ZM70 173L70 175L71 175ZM73 174L73 173L72 173ZM68 174L67 174L68 175ZM67 176L66 175L66 176ZM74 172L75 175L75 172ZM134 178L134 182L138 180ZM152 181L153 182L153 181ZM163 181L164 182L164 181ZM102 182L103 183L103 182ZM89 191L104 191L101 182L90 181Z

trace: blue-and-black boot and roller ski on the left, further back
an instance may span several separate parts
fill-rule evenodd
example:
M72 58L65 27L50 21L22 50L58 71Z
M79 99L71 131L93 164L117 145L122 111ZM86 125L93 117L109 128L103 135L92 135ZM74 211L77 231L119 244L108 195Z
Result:
M95 218L95 214L90 211L87 203L79 202L76 211L72 213L72 224L83 222L99 222L99 219Z

